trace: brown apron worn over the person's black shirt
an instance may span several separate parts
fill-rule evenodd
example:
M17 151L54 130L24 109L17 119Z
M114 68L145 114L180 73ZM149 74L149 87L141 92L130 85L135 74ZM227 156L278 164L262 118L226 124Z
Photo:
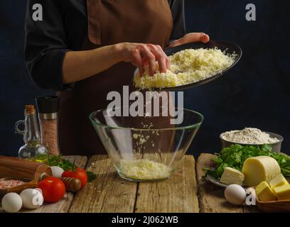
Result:
M168 0L87 0L88 32L82 50L116 43L152 43L165 48L173 29ZM89 114L107 108L107 94L123 86L133 89L135 67L121 62L61 92L60 152L95 155L106 151L89 120Z

